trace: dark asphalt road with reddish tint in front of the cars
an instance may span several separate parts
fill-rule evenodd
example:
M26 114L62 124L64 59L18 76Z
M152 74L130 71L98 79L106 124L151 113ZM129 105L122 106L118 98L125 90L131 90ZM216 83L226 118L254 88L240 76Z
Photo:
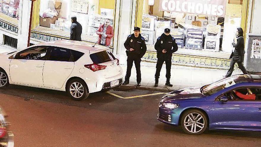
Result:
M122 97L157 91L110 91ZM76 102L64 92L10 86L0 90L17 147L261 146L261 132L208 131L187 135L157 121L163 94L121 99L99 92Z

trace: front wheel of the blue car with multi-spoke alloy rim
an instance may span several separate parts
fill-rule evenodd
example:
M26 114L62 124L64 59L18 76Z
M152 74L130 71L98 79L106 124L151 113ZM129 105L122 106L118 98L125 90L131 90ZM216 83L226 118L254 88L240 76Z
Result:
M187 134L199 135L206 130L207 126L207 116L200 110L188 110L181 117L181 127Z

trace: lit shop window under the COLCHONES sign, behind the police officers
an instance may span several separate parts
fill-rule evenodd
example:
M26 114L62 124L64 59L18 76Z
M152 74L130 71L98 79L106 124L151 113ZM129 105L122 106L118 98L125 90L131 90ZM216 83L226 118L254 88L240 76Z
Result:
M169 28L179 48L230 53L236 29L241 26L242 2L243 0L201 1L202 6L217 3L218 6L225 7L226 13L218 16L218 12L212 14L212 9L211 12L207 12L204 7L200 13L196 13L196 7L195 13L192 13L193 9L187 13L186 4L179 4L175 8L171 8L173 5L168 5L167 2L166 8L164 8L167 10L163 11L164 4L161 4L163 1L155 0L154 5L151 6L149 0L144 0L143 7L140 8L143 13L142 22L136 20L136 24L142 23L141 35L145 38L150 51L155 51L154 45L157 38L164 33L165 28ZM183 7L178 8L179 6ZM186 12L184 12L185 10ZM209 54L209 52L197 53ZM224 56L224 58L228 57Z

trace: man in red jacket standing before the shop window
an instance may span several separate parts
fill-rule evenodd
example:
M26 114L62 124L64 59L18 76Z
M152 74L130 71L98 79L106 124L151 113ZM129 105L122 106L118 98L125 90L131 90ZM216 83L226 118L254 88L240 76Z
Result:
M111 44L111 39L114 36L113 28L110 26L111 20L108 18L105 20L105 23L99 26L96 34L99 35L98 44L109 46Z

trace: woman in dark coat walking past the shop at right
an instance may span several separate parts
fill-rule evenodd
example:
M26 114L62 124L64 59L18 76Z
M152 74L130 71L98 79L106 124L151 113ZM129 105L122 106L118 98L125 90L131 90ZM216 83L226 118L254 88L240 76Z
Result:
M223 76L224 78L230 77L232 75L235 63L238 64L238 67L241 69L241 71L244 74L248 74L246 71L246 68L243 65L244 54L245 54L245 50L244 50L245 45L244 45L243 34L244 34L243 29L238 28L236 31L236 38L234 39L234 42L232 43L234 48L233 48L232 53L229 58L229 59L231 59L230 68L227 71L227 75Z

